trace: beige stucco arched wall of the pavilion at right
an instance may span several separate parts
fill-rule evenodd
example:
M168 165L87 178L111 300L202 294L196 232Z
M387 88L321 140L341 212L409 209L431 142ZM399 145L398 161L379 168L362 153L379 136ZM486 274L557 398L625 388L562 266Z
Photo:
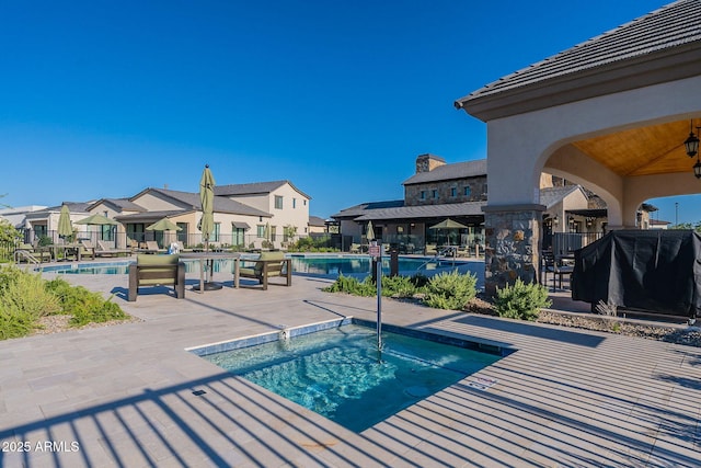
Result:
M700 89L701 76L489 122L489 204L539 203L543 169L601 196L611 228L634 227L637 207L645 199L698 193L699 181L690 173L619 176L567 145L614 130L698 117L701 102L689 96L700 95Z

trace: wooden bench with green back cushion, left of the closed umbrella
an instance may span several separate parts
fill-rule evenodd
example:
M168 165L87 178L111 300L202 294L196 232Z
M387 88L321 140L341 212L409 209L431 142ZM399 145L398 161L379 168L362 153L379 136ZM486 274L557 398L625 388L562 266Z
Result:
M185 263L179 255L137 254L129 265L129 301L136 300L141 286L173 285L175 297L185 297Z

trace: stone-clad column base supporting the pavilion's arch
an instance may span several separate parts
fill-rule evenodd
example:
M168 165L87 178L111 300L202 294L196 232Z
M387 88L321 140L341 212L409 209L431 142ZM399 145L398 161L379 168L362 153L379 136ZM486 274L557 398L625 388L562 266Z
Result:
M484 289L490 296L497 287L538 282L541 220L545 206L484 206L486 248L484 251Z

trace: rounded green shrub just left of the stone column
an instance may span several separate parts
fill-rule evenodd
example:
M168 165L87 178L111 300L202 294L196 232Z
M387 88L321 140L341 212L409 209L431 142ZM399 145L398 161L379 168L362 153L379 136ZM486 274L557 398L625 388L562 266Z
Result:
M462 310L476 296L474 274L439 273L433 276L425 286L424 304L436 309Z

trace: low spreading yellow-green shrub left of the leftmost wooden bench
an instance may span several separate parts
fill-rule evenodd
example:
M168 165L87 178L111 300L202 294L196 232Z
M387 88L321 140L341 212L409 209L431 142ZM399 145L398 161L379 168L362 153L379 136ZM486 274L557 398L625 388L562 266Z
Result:
M105 300L101 294L82 286L71 286L62 278L47 282L46 288L59 299L62 312L72 316L69 321L72 327L124 320L128 317L117 304Z

